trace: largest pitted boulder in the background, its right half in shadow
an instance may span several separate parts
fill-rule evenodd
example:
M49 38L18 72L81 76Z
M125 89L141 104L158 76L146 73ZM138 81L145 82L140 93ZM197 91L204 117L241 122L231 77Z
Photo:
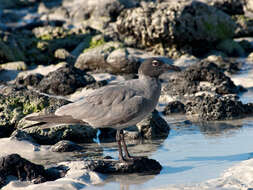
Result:
M126 44L147 48L161 44L199 55L215 49L215 43L233 37L236 24L226 13L198 1L142 3L123 10L116 28ZM205 47L203 47L203 43Z

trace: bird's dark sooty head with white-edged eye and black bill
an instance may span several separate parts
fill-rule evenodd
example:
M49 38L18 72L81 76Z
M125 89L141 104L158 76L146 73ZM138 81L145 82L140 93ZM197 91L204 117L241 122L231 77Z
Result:
M177 66L164 63L159 58L146 59L140 66L139 75L145 75L149 77L158 78L161 74L168 71L181 71Z

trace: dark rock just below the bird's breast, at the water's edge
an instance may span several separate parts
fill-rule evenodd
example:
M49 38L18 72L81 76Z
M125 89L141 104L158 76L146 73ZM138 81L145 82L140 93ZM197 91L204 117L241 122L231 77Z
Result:
M166 138L170 132L169 125L157 110L154 110L136 126L145 139Z

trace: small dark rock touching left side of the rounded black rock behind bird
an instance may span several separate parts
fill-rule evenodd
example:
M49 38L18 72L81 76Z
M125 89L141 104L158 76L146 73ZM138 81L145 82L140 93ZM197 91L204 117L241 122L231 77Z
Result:
M16 85L18 86L37 86L40 81L43 79L43 75L36 73L31 74L26 77L18 77L16 79Z

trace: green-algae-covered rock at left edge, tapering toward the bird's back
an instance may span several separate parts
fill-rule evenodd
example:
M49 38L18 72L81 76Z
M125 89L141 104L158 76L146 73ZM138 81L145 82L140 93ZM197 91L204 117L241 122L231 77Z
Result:
M24 116L39 111L52 113L56 108L67 103L69 101L41 95L25 88L2 86L0 88L0 137L8 137Z

